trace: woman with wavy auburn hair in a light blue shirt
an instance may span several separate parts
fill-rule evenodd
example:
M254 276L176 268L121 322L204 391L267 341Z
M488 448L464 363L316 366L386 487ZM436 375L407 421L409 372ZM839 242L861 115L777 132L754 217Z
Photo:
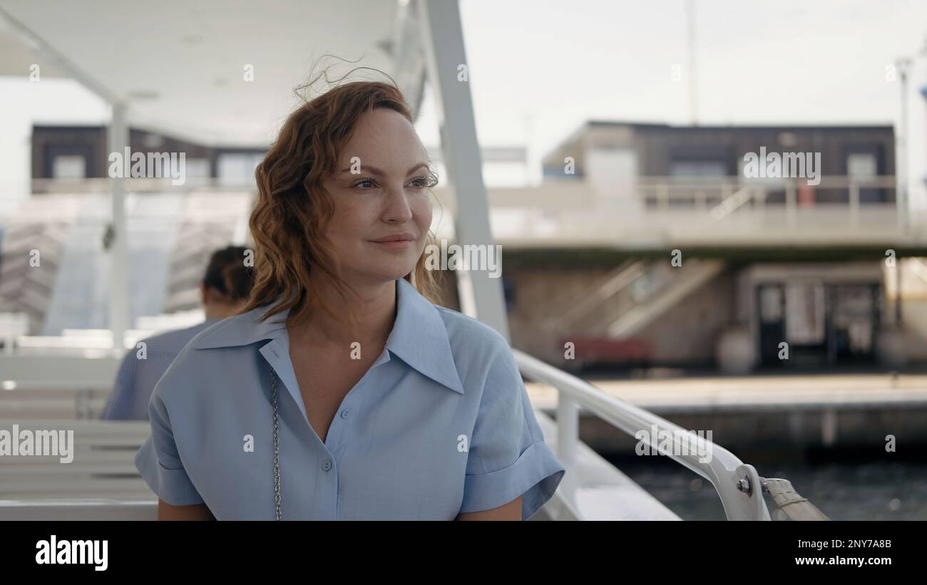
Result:
M565 469L505 339L433 305L435 176L391 84L298 108L255 172L255 285L159 381L163 519L527 519Z

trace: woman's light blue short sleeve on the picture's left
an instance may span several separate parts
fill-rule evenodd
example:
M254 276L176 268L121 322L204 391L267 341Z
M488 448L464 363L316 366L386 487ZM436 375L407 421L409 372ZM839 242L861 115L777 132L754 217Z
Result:
M174 442L171 418L156 388L148 403L151 436L135 454L135 467L148 487L171 505L203 504L184 469Z

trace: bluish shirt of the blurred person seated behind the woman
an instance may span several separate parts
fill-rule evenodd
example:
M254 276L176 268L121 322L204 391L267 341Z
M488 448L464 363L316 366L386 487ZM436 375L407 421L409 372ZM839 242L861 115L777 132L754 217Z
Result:
M140 349L129 351L122 358L116 384L109 394L107 405L100 413L104 420L147 420L148 401L161 376L184 345L200 331L218 322L206 319L193 327L166 331L143 340L145 352Z

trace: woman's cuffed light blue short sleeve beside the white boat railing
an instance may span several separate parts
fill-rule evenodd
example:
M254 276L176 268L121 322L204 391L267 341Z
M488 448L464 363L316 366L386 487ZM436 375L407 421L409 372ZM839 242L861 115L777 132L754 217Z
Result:
M522 496L522 520L550 500L565 468L544 442L507 344L494 357L470 440L461 513L491 510Z

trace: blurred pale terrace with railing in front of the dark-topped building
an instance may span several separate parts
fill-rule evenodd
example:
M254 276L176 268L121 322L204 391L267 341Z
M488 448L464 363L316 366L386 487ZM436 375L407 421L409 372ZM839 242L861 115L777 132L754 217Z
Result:
M547 180L533 187L490 187L488 194L493 233L510 244L601 245L613 239L635 247L666 240L670 232L685 243L792 237L782 228L815 241L884 240L899 232L927 237L919 228L927 214L896 205L897 192L894 176L646 176ZM438 187L435 194L442 210L455 211L450 190ZM452 238L449 228L438 233Z

